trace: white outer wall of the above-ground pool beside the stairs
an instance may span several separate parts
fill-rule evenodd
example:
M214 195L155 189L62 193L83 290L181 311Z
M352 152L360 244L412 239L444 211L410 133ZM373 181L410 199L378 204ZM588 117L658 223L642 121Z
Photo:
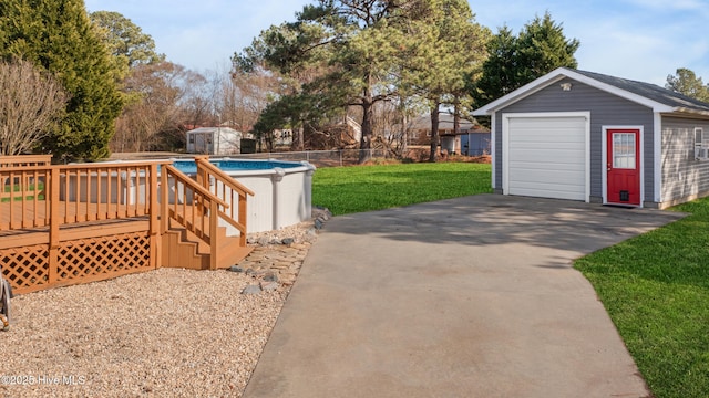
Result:
M278 230L309 220L315 170L315 166L307 161L288 168L223 170L256 193L246 201L247 233ZM220 189L219 182L217 191ZM220 221L219 226L227 228L227 235L238 234L238 230L226 221Z

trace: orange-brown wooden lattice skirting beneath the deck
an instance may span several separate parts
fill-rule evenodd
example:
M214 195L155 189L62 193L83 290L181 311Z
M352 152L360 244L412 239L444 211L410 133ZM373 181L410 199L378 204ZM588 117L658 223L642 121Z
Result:
M55 261L48 244L0 250L3 276L16 293L101 281L151 270L147 232L84 238L61 242ZM54 270L50 263L55 263Z

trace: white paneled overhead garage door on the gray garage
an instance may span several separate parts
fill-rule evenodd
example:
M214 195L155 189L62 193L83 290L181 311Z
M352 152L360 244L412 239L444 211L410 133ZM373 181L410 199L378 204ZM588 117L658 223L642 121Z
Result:
M587 117L506 117L505 192L586 200Z

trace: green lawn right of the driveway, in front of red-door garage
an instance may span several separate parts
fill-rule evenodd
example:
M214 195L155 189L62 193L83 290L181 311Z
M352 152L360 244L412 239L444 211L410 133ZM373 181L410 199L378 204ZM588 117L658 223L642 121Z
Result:
M691 216L576 261L653 395L709 397L709 198Z

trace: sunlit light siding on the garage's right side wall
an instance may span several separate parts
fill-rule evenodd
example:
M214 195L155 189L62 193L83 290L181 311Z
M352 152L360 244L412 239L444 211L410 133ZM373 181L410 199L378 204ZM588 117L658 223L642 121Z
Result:
M709 160L695 160L695 127L709 139L709 121L662 117L661 201L686 201L709 192Z

